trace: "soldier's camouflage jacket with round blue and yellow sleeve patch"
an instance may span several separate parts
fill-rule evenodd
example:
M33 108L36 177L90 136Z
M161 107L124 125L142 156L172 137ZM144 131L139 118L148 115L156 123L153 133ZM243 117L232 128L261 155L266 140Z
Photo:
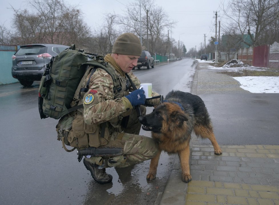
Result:
M90 128L85 131L90 133L96 130L96 127L101 130L101 124L108 122L106 123L107 139L114 132L122 132L121 120L134 109L130 101L124 97L133 91L130 81L128 78L121 76L110 63L108 63L108 66L112 67L119 76L122 90L114 93L112 77L104 69L97 68L91 76L88 92L84 94L83 99L80 99L78 103L83 103L84 106L83 109L79 110L80 112L83 111L84 127L93 127L92 130ZM88 81L90 74L84 80L84 85ZM128 75L136 87L139 88L140 80L132 72L128 73ZM152 92L152 96L157 95L159 94ZM158 105L159 99L148 100L148 103Z

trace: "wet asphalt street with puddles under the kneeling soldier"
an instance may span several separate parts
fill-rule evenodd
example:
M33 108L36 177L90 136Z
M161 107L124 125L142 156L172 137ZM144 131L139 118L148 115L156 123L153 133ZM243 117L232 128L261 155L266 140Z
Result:
M153 69L135 70L141 82L166 95L171 89L190 91L193 60L182 60ZM149 161L123 169L107 169L110 184L92 179L76 152L67 153L56 140L58 120L40 119L38 87L19 83L0 86L0 204L154 204L162 193L173 164L173 155L161 154L157 178L147 182ZM148 108L147 112L151 112ZM141 131L142 135L150 133Z

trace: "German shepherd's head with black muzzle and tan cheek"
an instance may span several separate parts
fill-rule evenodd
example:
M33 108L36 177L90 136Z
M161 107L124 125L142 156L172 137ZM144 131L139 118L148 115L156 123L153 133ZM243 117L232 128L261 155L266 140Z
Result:
M142 129L152 132L167 133L183 126L188 120L185 112L175 103L162 103L153 112L139 117Z

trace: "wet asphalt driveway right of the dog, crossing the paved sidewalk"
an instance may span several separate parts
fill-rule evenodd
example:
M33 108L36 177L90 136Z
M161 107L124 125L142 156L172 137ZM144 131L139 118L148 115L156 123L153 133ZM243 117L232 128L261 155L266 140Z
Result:
M220 145L278 145L279 94L202 94ZM209 144L199 140L199 144Z

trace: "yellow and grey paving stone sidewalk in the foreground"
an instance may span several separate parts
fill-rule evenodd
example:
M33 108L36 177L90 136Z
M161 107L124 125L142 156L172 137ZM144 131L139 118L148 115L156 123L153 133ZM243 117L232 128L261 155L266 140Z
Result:
M193 145L187 205L279 204L279 146Z

